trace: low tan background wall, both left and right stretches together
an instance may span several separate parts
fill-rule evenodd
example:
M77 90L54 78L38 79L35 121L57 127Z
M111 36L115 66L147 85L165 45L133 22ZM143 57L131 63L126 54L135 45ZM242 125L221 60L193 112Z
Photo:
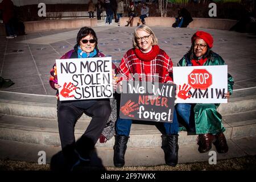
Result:
M120 18L120 26L127 24L128 17ZM134 18L133 26L137 26L138 17ZM175 22L175 18L171 17L148 17L145 19L146 24L151 27L171 27ZM193 22L189 23L189 28L212 28L217 30L229 30L237 20L230 19L216 19L216 18L193 18ZM76 18L76 19L60 19L60 20L40 20L24 22L25 32L38 32L47 30L59 30L63 28L80 28L84 26L97 26L97 18ZM5 26L0 24L0 35L5 34Z

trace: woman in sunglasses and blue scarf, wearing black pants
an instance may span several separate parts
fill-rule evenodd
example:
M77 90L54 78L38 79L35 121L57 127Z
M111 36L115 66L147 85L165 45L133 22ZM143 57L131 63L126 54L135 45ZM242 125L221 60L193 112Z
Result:
M97 43L94 30L82 27L77 34L74 49L65 53L60 59L104 57L104 54L98 51ZM61 148L67 169L72 171L80 162L90 160L90 152L106 126L112 108L109 99L60 101L58 96L61 86L57 82L56 65L51 69L49 84L57 90L57 121ZM75 142L75 124L83 113L92 117L92 120L82 137Z

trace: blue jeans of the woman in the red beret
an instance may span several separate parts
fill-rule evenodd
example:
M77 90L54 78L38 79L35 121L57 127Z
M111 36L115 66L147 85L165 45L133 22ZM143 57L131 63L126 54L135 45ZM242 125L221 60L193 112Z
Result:
M191 131L195 132L195 113L193 111L192 104L176 104L175 109L177 115L179 115L185 122L185 127Z

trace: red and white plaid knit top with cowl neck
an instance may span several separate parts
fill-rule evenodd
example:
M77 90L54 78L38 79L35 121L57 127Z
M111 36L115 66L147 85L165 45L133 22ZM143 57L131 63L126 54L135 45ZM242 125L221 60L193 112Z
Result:
M126 80L132 73L140 81L167 82L172 80L172 60L159 46L153 46L151 51L143 53L140 49L130 49L123 56L117 73L121 73ZM146 78L146 79L144 79Z

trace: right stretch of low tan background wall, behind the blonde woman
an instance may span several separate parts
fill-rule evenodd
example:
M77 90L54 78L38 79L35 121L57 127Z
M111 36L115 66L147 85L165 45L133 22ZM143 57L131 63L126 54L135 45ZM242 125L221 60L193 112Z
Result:
M127 24L128 17L120 18L120 26L125 26ZM139 18L135 17L133 26L137 26ZM175 22L175 18L171 17L147 17L145 22L150 27L171 27ZM231 19L216 19L216 18L193 18L193 22L189 23L189 28L212 28L217 30L229 30L237 20Z

